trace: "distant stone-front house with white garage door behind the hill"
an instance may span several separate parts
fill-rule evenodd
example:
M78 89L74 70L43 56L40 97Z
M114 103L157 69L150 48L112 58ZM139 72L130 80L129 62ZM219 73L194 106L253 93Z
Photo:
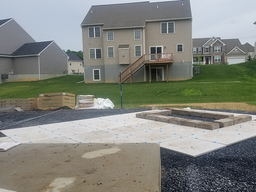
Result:
M250 44L249 44L250 45ZM220 37L193 39L193 63L201 64L236 64L247 61L248 44L242 45L239 39Z

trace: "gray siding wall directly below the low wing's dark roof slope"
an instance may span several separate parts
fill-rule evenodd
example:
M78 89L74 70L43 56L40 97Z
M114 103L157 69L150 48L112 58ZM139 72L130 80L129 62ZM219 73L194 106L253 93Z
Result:
M15 57L13 61L15 74L39 74L38 56Z

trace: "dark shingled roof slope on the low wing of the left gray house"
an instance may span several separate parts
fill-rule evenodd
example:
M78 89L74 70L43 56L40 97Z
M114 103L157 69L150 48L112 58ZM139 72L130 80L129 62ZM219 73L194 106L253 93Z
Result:
M53 41L44 41L37 43L25 43L23 46L13 52L12 56L38 55Z

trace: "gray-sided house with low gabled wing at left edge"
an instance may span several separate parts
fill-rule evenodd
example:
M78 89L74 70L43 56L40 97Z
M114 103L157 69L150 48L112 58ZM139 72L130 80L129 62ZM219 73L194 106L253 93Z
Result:
M14 18L0 20L0 42L0 84L67 73L68 56L55 41L36 42Z

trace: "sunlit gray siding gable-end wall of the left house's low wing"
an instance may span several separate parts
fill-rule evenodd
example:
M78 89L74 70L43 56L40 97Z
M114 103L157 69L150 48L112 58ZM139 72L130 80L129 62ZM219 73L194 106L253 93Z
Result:
M66 74L67 56L53 42L40 54L40 73L41 74Z

